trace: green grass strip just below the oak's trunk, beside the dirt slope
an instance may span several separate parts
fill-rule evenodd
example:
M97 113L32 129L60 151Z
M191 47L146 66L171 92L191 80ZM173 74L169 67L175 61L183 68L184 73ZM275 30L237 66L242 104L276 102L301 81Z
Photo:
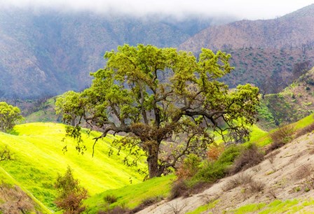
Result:
M94 197L90 197L85 201L89 207L90 213L97 213L99 210L104 210L108 207L104 201L104 197L114 196L118 199L110 208L114 206L125 206L127 208L135 208L139 206L145 199L165 198L170 194L170 188L175 176L163 176L161 178L152 178L143 183L128 185L116 190L107 190Z

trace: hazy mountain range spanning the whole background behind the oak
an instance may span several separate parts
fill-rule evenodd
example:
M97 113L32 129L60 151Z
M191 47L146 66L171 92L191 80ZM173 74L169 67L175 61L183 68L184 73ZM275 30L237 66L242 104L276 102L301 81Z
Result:
M80 91L104 52L128 43L231 53L231 87L285 88L314 62L314 5L273 20L171 15L100 15L88 11L0 9L0 98L37 99ZM226 24L227 23L227 24Z

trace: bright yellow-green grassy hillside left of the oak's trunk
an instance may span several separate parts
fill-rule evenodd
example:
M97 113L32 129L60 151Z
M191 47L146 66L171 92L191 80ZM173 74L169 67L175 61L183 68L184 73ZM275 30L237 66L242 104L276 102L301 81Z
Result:
M87 150L78 155L75 143L64 138L64 125L55 123L30 123L17 125L12 134L0 133L0 146L5 145L14 153L14 161L1 162L1 179L16 183L23 190L34 195L50 210L55 209L53 183L58 173L64 173L67 166L74 171L74 177L88 189L90 195L116 189L125 185L140 183L143 179L134 169L123 165L123 155L108 156L113 136L99 141L92 157L93 137L83 134ZM62 152L67 145L67 152ZM144 167L144 164L140 165ZM8 176L4 176L7 173Z

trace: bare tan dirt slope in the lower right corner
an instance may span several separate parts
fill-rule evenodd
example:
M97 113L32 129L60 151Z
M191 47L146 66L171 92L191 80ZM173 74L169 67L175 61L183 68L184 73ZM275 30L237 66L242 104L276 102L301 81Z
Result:
M313 197L313 154L314 134L306 134L271 152L261 164L221 179L200 194L161 201L139 213L187 213L216 200L214 208L205 213L233 213L247 204L269 204L274 200L298 199L296 203L301 203ZM296 212L309 211L314 211L313 205Z

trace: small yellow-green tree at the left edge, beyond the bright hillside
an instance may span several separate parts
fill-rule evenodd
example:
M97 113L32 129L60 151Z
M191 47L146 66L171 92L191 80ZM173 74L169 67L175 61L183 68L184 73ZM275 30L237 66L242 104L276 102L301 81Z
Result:
M20 108L0 102L0 131L7 132L15 126L15 122L22 120Z

